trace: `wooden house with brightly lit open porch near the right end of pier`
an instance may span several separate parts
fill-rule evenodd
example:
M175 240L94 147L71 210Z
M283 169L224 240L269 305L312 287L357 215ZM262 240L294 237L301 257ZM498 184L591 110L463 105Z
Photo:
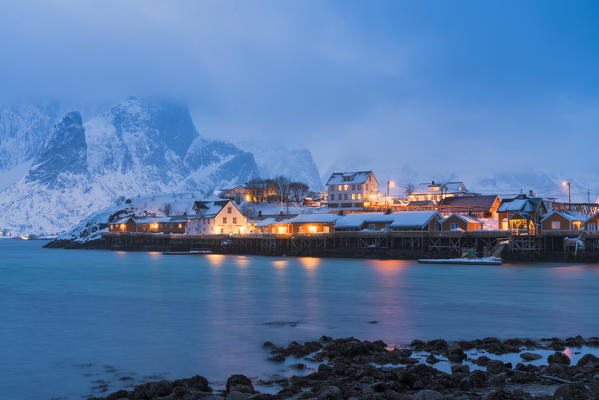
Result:
M540 197L521 194L513 199L503 199L497 209L499 229L509 230L514 235L536 235L547 212Z

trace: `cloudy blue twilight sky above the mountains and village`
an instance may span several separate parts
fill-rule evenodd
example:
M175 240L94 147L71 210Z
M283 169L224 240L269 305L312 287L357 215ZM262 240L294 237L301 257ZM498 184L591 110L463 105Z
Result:
M0 101L189 104L321 173L599 193L596 1L0 0Z

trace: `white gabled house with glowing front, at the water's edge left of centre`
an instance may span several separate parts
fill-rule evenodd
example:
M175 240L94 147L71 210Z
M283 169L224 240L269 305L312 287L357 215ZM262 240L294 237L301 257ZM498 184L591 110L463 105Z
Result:
M196 201L195 216L187 219L189 235L240 234L248 232L247 218L231 200Z

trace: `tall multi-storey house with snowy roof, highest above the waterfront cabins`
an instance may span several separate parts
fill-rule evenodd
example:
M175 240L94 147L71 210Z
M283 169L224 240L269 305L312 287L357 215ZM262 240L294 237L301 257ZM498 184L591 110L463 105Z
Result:
M379 195L379 183L372 171L334 172L326 186L329 208L362 209Z

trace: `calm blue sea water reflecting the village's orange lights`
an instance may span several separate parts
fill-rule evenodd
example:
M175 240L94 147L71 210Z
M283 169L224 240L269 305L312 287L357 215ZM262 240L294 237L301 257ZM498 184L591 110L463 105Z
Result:
M43 244L0 240L2 398L79 399L158 377L201 374L218 386L232 373L289 373L266 361L266 340L599 335L597 265L165 256Z

